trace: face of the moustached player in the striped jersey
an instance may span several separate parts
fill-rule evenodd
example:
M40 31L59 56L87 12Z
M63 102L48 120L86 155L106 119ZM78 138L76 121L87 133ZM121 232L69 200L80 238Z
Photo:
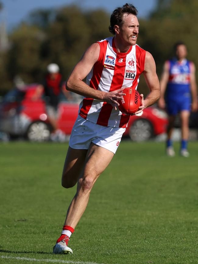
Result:
M119 37L123 44L135 45L139 33L138 19L133 14L125 13L122 17L123 24L119 27Z

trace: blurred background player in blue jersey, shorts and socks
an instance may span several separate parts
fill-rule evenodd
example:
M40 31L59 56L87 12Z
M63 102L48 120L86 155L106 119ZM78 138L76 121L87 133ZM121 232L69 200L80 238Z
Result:
M171 157L175 156L171 136L175 116L180 113L182 130L180 154L183 157L189 157L187 143L189 139L190 110L197 111L195 65L186 59L187 48L183 42L176 43L174 48L176 58L164 63L164 70L160 81L161 98L158 101L158 105L162 109L166 108L169 115L166 141L167 155Z

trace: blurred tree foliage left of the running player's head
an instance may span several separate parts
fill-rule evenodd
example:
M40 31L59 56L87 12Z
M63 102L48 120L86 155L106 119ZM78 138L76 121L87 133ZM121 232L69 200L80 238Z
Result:
M15 76L25 83L42 82L51 62L66 80L90 44L110 35L108 25L109 14L100 9L85 12L69 5L31 12L9 34L10 48L0 52L0 94L13 87Z

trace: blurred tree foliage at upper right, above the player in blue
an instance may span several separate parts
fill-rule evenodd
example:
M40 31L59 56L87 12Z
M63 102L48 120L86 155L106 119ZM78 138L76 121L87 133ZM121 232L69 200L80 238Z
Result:
M143 22L143 46L152 53L157 72L162 63L173 56L175 42L183 41L189 51L188 58L198 65L198 1L159 0L157 9Z

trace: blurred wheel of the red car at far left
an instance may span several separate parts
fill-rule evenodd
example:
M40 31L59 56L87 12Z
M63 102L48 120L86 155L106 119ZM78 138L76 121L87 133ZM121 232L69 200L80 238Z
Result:
M48 124L41 121L32 123L27 130L27 139L38 142L48 141L50 139Z

